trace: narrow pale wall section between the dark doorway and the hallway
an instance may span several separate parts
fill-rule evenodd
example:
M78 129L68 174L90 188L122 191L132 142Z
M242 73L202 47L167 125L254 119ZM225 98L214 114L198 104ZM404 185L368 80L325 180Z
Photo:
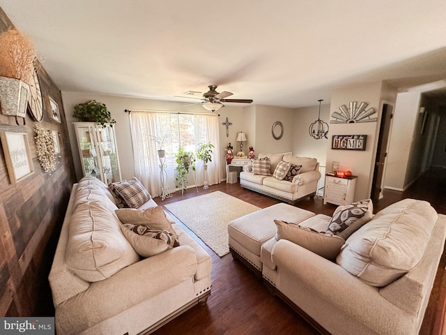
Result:
M409 167L414 131L420 117L420 92L404 92L397 96L392 133L390 135L384 187L403 191Z

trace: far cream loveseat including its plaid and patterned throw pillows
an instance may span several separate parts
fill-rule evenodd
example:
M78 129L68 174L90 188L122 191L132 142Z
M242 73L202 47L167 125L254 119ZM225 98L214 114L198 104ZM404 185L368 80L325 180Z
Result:
M320 178L316 158L259 154L240 172L240 186L293 204L314 197Z

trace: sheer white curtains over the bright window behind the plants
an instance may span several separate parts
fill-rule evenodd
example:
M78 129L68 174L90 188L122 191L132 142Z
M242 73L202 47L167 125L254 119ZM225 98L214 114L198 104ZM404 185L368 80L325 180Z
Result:
M166 151L167 187L169 191L175 191L175 154L178 147L183 145L180 141L180 126L178 113L166 112L130 112L130 130L132 133L134 172L141 183L152 196L161 194L160 161L157 154L157 143L154 137L167 135L163 145ZM222 180L220 172L221 157L217 150L220 148L220 136L218 133L218 117L215 115L194 114L194 149L199 143L212 143L215 148L212 162L208 163L208 184L218 184ZM197 186L204 184L203 162L197 161L195 173ZM193 178L188 178L188 186L194 186Z

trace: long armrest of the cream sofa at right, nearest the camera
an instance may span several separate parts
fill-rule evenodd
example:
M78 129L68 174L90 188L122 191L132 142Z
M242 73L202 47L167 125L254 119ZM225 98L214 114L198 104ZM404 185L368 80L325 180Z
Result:
M330 304L334 311L341 313L319 315L321 318L353 318L378 334L392 334L392 331L397 334L396 329L404 328L404 324L409 323L405 312L380 296L379 288L367 285L336 263L298 244L281 239L272 248L271 257L277 265L277 288L282 293L292 296L298 290L310 290L318 301L322 299L325 306ZM281 287L281 283L284 286ZM392 325L390 318L395 319Z

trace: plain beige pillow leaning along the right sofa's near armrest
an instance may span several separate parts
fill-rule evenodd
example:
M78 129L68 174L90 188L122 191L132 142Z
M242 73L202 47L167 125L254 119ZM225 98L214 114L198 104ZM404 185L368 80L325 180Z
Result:
M274 222L277 226L277 241L287 239L328 260L334 260L345 243L342 237L325 235L325 232L318 232L309 227L286 221L275 220Z

